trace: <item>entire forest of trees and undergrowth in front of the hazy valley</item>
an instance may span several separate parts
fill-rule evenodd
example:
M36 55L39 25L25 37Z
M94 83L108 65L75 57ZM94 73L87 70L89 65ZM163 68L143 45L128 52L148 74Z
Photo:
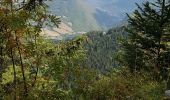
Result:
M40 34L61 22L47 8L0 1L0 100L170 98L169 0L136 4L126 24L63 41Z

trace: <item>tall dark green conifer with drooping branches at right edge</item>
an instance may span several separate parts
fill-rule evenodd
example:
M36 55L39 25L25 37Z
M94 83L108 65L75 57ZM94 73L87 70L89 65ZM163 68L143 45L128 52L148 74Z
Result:
M157 0L138 6L129 17L128 40L124 43L125 66L132 72L146 70L157 79L168 79L170 67L170 2Z

